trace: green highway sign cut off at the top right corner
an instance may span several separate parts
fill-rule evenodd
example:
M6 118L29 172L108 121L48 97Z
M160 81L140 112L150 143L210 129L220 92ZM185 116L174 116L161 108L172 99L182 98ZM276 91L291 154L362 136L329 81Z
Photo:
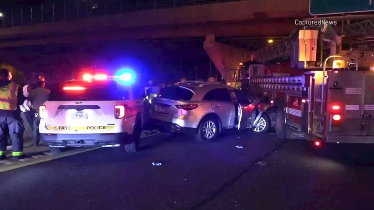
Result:
M310 15L374 12L374 0L309 0Z

